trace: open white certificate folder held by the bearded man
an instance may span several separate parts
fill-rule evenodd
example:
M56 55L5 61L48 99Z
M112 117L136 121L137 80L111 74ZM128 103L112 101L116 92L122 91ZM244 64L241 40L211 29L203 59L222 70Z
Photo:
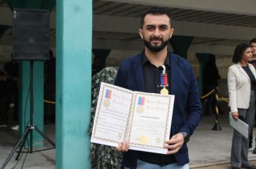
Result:
M91 142L116 147L129 140L129 149L166 154L173 102L174 95L133 92L101 82Z

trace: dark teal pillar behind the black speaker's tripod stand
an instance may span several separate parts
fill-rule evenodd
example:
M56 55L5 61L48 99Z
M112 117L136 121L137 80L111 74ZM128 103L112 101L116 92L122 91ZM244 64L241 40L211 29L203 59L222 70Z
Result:
M33 71L33 96L34 96L34 115L33 123L41 131L43 131L43 67L44 62L34 62ZM19 135L25 130L29 124L30 112L30 62L22 61L19 63ZM33 132L33 146L42 147L43 138L38 132Z

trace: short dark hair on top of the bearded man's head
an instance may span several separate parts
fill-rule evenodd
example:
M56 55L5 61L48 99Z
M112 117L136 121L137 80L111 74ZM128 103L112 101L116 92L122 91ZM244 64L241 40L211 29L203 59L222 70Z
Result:
M143 27L143 24L145 23L144 19L145 19L145 16L147 14L153 14L153 15L163 15L163 14L166 14L169 17L170 24L171 24L171 14L170 14L170 11L168 11L168 10L166 10L164 8L158 7L158 6L154 6L154 7L151 7L150 9L148 9L147 11L145 11L144 14L142 14L142 17L141 17L141 20L140 20L141 28Z

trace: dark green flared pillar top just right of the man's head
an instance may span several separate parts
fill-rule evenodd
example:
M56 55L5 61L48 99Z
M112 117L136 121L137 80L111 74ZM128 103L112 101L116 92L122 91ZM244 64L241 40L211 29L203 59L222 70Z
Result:
M187 58L188 48L193 41L193 37L173 35L170 39L170 44L173 47L173 52L180 57Z

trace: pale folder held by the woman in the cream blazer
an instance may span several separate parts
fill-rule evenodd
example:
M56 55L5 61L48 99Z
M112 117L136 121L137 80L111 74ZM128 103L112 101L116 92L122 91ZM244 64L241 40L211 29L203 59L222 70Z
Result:
M242 120L238 119L237 121L233 119L232 112L229 112L229 124L234 127L235 130L240 132L244 137L248 138L248 125Z

